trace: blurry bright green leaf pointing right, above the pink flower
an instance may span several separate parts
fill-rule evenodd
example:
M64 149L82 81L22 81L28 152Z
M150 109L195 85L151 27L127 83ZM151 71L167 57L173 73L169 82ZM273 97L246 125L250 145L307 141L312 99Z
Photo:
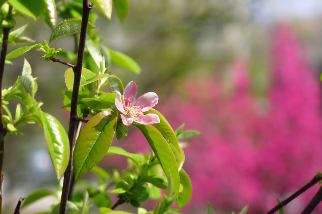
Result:
M111 61L133 71L136 74L141 72L140 66L129 56L125 55L124 53L114 51L112 49L108 49L111 56Z

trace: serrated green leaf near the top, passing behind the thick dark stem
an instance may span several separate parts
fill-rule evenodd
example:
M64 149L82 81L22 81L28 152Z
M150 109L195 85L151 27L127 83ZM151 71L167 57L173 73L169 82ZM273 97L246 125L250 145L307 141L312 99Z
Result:
M79 18L71 18L71 19L62 21L57 25L54 32L51 33L48 44L50 45L53 41L63 38L65 36L81 33L81 27L82 27L82 19L79 19ZM88 30L95 29L95 28L97 27L95 27L91 23L88 23L88 26L87 26Z

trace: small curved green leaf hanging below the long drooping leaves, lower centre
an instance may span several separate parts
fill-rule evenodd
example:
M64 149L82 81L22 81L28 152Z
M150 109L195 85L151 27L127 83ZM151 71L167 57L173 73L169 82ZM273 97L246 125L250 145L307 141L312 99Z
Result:
M181 209L185 205L187 205L191 199L192 194L192 184L187 172L183 169L179 172L180 175L180 184L183 187L183 190L179 192L179 196L177 199L177 205Z

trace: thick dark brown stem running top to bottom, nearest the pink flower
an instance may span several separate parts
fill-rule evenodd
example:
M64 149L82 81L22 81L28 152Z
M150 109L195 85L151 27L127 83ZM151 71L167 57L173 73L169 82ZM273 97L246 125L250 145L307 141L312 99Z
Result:
M73 89L72 89L72 95L71 95L70 118L69 118L69 129L68 129L70 156L69 156L68 166L64 174L64 182L63 182L61 200L60 200L60 210L59 210L60 214L66 213L68 194L70 190L70 181L73 174L72 148L74 143L75 130L77 128L77 122L78 122L77 99L78 99L79 84L81 82L81 75L82 75L82 68L83 68L87 25L88 25L89 15L90 15L92 6L93 5L90 4L88 0L83 0L83 18L82 18L81 35L79 38L79 45L78 45L77 64L75 67L72 68L74 71L74 83L73 83Z

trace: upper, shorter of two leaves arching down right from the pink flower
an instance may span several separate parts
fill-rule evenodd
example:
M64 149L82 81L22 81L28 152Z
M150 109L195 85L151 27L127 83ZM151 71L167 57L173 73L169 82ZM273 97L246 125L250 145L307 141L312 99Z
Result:
M169 140L169 143L173 144L177 148L178 151L181 151L180 146L177 141L175 131L172 129L171 125L169 124L169 122L167 121L165 116L163 116L161 113L159 113L155 109L150 109L149 111L145 112L144 114L156 114L157 116L159 116L160 123L153 124L153 126Z

